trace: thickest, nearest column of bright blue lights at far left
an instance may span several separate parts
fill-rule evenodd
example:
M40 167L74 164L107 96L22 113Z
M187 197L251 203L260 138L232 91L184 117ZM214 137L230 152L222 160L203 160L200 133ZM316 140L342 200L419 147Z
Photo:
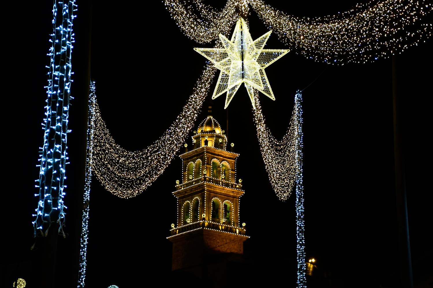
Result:
M71 92L71 54L74 43L73 20L77 11L75 0L53 1L53 33L50 35L51 47L48 51L50 65L45 118L42 123L44 143L39 147L39 179L35 180L35 187L39 193L38 207L33 214L36 219L32 222L34 236L39 231L46 236L52 223L58 224L58 233L65 237L63 225L65 222L64 182L66 179L66 165L69 164L66 149L68 130L69 100L73 99Z

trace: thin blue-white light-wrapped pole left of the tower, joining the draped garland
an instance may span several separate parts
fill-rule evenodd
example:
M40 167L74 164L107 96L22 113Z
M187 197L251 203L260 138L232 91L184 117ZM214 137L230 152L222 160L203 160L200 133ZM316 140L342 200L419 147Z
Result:
M83 220L81 224L81 247L80 247L80 270L78 271L78 288L84 288L87 265L87 241L89 224L89 202L90 184L92 182L92 149L93 149L93 130L94 130L94 108L96 102L95 82L90 82L89 94L89 117L87 120L87 147L86 147L86 170L84 195L83 195Z

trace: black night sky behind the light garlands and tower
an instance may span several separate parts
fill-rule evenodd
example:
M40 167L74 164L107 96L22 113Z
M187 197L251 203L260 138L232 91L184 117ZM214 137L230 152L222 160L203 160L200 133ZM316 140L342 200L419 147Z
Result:
M141 150L162 135L191 95L205 64L193 47L212 47L184 36L160 1L108 5L107 1L94 0L89 67L89 4L82 2L78 1L78 17L74 19L71 94L75 99L69 113L71 165L66 172L65 198L68 237L58 240L56 287L76 287L78 279L88 72L96 81L100 111L116 142L131 151ZM357 3L266 2L295 16L334 14ZM40 1L23 9L19 16L23 21L6 34L12 41L9 56L3 56L7 61L4 71L12 68L12 72L6 75L9 91L3 95L3 153L7 163L3 166L3 194L11 200L3 203L4 287L11 287L18 277L26 279L27 287L36 287L39 275L46 271L40 264L43 249L29 248L34 243L31 215L37 205L34 179L39 173L35 165L43 136L40 123L46 99L44 67L49 63L45 54L50 47L51 8L51 1ZM255 39L268 28L252 9L250 12L249 31ZM433 256L428 228L431 202L427 199L431 169L426 168L431 148L427 138L431 133L432 44L430 39L397 56L416 287L427 287L423 283L433 281L428 261ZM291 47L273 34L267 48ZM332 66L291 51L266 73L276 100L260 94L260 101L266 123L277 138L288 127L295 92L317 79L303 92L306 253L307 259L317 260L308 286L399 287L391 59ZM215 83L216 79L207 99ZM224 100L225 95L214 100L212 112L226 130ZM207 116L207 109L202 111L193 130ZM228 118L228 140L240 154L236 173L246 191L240 204L240 222L246 222L251 236L244 246L251 273L239 274L239 279L271 287L277 283L295 287L295 198L281 202L271 188L245 88L241 87L230 103ZM187 143L191 145L191 141ZM165 238L170 224L176 222L176 200L171 192L178 179L178 156L151 187L132 199L112 195L94 177L88 287L142 287L155 279L162 286L181 284L170 276L171 243Z

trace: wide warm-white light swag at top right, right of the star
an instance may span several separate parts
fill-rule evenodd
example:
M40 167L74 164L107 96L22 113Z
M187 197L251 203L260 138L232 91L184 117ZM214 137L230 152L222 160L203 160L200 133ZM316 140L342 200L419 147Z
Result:
M427 0L370 1L344 13L317 18L290 16L263 0L248 2L293 51L332 64L390 57L425 41L433 28L431 23L420 21L433 11Z

